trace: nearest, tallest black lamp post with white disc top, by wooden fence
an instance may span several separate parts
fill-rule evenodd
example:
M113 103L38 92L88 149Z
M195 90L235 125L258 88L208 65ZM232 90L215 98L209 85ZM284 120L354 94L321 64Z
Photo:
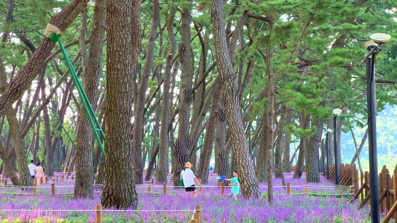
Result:
M368 148L370 158L370 194L372 223L380 222L378 190L378 152L376 151L376 93L375 93L375 57L382 50L382 44L391 38L384 33L370 35L372 40L364 42L368 54L362 59L366 63L367 75L367 110L368 110Z

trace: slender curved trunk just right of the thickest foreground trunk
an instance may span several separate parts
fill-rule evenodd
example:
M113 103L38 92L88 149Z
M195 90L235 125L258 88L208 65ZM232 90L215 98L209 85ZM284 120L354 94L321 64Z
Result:
M133 171L134 179L137 184L143 184L143 168L142 168L142 126L145 114L145 93L149 81L149 75L152 70L154 59L155 40L160 23L160 6L158 0L153 1L153 17L152 28L150 29L150 36L148 44L146 45L146 60L143 67L142 76L139 79L139 88L135 98L134 105L134 128L133 128ZM140 32L139 32L140 33ZM156 139L153 139L156 140ZM148 145L150 146L150 145Z

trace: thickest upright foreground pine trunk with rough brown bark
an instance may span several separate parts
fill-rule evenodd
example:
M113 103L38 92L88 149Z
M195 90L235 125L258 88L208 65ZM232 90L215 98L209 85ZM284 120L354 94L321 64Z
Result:
M139 0L108 0L104 208L137 208L129 120L133 105L132 72L141 44L140 15Z

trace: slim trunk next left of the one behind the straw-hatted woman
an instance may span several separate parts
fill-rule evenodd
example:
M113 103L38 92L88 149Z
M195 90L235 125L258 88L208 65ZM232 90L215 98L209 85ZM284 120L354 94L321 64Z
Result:
M158 2L157 2L158 4ZM166 67L164 71L164 82L163 82L163 109L161 110L161 128L160 128L160 144L159 144L159 155L157 165L157 181L160 183L167 183L168 178L168 152L169 152L169 137L168 137L168 125L170 123L170 86L171 86L171 69L173 55L175 54L175 36L173 33L173 21L175 19L176 8L172 2L170 4L170 13L167 21L167 31L169 40L169 49L166 59ZM173 133L171 133L173 134Z

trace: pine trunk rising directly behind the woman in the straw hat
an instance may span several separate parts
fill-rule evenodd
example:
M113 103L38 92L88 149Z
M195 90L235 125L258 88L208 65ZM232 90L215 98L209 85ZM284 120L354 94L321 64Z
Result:
M183 5L181 12L181 44L179 46L179 60L181 61L181 83L179 87L179 129L175 140L175 166L172 175L174 186L180 184L180 172L189 161L190 155L190 106L192 103L192 79L193 79L193 50L190 45L190 10L192 0Z

